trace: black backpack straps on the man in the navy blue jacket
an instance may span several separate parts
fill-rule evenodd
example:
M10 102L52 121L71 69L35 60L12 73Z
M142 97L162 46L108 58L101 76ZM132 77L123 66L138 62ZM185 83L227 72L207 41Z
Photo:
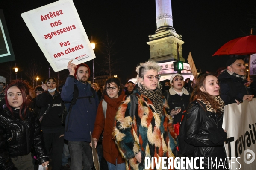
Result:
M72 107L76 104L77 99L88 98L90 104L91 104L91 98L94 98L94 99L95 99L96 93L95 93L95 90L94 90L92 87L91 87L91 92L92 92L92 95L91 95L91 96L78 97L79 90L78 90L78 88L77 88L77 85L74 84L73 99L72 99L72 101L71 101L71 104L70 104L70 107L69 107L69 110L68 110L68 113L67 113L67 114L68 114L68 122L69 122L69 117L70 117L70 114L71 114ZM62 117L62 118L63 118L63 117ZM68 131L68 122L67 122L67 126L66 126L66 132Z

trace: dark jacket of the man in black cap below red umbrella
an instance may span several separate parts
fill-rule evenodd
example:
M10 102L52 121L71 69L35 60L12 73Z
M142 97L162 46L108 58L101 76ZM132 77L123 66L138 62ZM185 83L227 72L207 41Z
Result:
M244 95L251 95L250 88L244 83L248 82L239 77L230 75L227 70L224 70L219 76L220 96L225 105L243 101Z

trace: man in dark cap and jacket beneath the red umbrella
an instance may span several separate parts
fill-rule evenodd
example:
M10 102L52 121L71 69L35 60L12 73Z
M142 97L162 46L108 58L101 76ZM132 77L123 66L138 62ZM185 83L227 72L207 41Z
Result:
M244 100L251 101L253 96L250 89L244 84L246 80L246 66L244 57L238 56L230 58L225 69L219 76L220 96L225 105L237 103L240 104Z

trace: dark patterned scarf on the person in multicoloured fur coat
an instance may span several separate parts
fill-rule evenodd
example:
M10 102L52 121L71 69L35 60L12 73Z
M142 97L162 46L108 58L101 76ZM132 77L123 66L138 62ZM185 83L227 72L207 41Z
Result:
M138 92L147 96L151 101L153 101L154 107L156 108L156 112L159 117L162 117L163 114L163 99L162 99L162 91L159 88L156 88L153 91L147 90L142 86L142 88L137 88Z

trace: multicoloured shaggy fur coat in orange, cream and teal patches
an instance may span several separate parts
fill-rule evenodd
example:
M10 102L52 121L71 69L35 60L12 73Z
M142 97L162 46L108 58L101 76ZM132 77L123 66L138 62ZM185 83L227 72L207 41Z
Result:
M165 111L169 108L163 97L163 115L160 118L155 111L153 102L145 95L138 93L138 112L134 119L129 116L130 97L124 97L115 121L112 135L118 145L119 151L126 160L127 170L144 170L145 157L175 157L177 136L174 133L172 118ZM135 154L141 151L141 163L135 158ZM150 166L151 168L151 166ZM162 159L160 170L162 170ZM154 164L154 168L155 164Z

